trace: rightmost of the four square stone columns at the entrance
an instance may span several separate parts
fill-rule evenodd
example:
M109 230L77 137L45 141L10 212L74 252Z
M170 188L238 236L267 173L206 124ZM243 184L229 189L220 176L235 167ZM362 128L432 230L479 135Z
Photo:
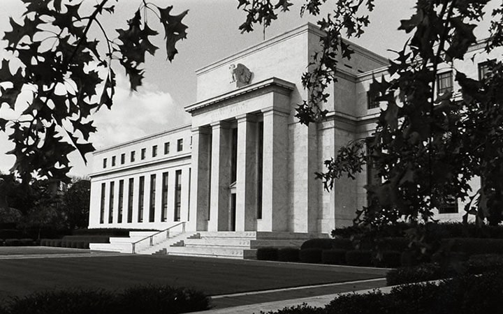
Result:
M287 231L289 225L288 114L263 112L262 219L257 231Z

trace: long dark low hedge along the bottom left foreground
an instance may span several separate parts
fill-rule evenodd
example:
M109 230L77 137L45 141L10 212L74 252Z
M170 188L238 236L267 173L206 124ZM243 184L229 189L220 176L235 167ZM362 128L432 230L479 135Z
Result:
M203 292L168 285L131 287L123 292L61 290L14 297L0 304L5 314L189 313L210 308ZM3 309L2 309L3 308Z

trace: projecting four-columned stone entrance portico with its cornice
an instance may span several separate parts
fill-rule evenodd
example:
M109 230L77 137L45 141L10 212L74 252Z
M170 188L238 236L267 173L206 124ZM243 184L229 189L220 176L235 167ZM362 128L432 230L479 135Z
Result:
M192 230L288 230L294 87L271 77L186 107L193 119Z

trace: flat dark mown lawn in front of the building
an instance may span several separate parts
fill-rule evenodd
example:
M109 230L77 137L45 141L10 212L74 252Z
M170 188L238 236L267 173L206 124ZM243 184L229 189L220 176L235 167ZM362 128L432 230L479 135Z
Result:
M195 287L228 294L382 278L381 269L167 255L81 256L0 260L0 299L68 287L118 290L137 284Z

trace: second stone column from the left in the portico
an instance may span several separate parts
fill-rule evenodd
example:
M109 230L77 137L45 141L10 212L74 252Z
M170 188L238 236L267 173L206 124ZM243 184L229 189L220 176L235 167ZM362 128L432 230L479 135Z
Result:
M224 121L212 124L212 167L209 231L228 230L231 184L231 129Z

